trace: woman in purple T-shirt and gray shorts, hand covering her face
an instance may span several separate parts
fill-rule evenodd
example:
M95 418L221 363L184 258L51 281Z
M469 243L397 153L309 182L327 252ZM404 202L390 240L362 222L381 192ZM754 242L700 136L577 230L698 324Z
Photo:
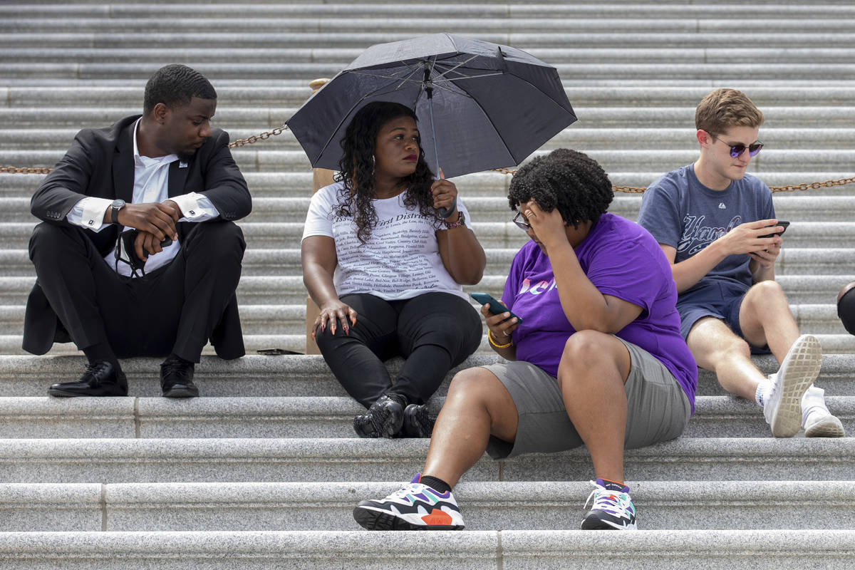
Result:
M359 524L463 528L451 487L484 450L504 459L585 444L596 480L581 527L636 527L623 450L681 434L698 369L680 335L669 263L646 230L606 212L612 197L603 169L574 150L519 169L510 207L531 241L502 296L519 320L481 308L490 344L507 362L457 373L425 474L360 502Z

